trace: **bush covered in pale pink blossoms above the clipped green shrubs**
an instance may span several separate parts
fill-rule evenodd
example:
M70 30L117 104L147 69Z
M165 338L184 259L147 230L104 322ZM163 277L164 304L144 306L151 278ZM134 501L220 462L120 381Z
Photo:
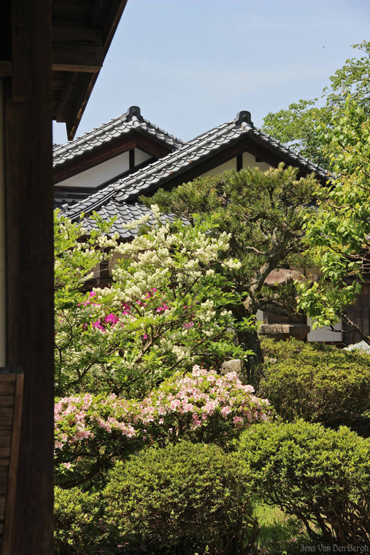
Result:
M220 376L199 366L176 373L142 401L115 394L63 398L55 406L57 481L97 483L114 459L153 443L186 438L227 445L242 429L266 420L268 406L236 373Z

